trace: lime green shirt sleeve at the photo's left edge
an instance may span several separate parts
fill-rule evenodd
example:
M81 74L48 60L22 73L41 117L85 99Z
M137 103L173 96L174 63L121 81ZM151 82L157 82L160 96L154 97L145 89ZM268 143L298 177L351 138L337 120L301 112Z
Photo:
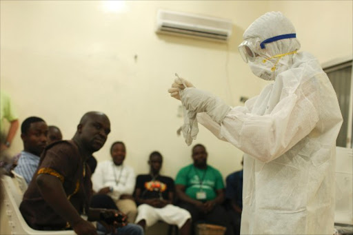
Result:
M18 119L14 106L12 105L10 96L6 92L0 91L0 131L4 132L3 120L14 121Z

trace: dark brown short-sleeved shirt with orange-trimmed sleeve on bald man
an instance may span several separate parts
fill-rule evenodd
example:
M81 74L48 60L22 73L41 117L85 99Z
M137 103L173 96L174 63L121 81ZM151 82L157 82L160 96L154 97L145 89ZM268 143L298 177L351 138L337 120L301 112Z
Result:
M77 144L74 141L59 141L46 147L19 207L23 218L34 229L60 230L69 227L68 222L54 212L41 196L36 183L39 174L59 178L68 200L82 214L84 209L88 209L92 183L90 168L83 162Z

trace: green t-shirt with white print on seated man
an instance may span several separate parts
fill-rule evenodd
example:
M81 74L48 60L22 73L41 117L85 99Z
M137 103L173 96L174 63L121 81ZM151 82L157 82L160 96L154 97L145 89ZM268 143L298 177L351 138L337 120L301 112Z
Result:
M223 177L219 170L208 165L205 169L194 167L193 164L181 168L175 179L176 185L185 186L185 194L198 200L196 193L205 192L206 198L200 201L210 201L216 198L216 190L224 188Z

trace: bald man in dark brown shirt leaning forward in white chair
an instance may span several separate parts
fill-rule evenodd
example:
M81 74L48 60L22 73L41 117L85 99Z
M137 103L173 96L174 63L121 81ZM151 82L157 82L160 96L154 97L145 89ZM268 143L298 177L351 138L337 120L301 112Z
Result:
M109 133L108 117L101 112L88 112L77 125L71 141L59 141L46 148L19 207L30 227L39 230L74 229L79 235L96 235L96 228L80 214L86 214L89 221L100 221L107 227L125 225L124 216L117 210L88 206L92 182L86 161L103 147ZM129 224L119 227L117 232L141 235L143 229Z

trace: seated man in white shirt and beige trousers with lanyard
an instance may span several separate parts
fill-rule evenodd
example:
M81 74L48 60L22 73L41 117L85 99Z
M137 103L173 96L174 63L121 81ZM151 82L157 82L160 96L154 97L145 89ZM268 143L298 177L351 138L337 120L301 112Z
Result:
M121 212L134 223L137 206L132 194L136 184L136 176L132 167L123 164L126 155L125 144L114 142L110 147L112 160L98 163L92 175L93 190L98 194L108 194L117 204Z

